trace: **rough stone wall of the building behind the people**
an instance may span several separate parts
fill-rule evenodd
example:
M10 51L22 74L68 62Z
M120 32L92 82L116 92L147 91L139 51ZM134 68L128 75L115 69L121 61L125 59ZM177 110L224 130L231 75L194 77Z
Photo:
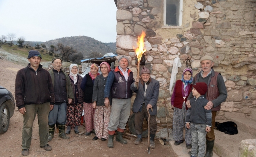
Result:
M250 108L256 108L256 0L184 0L182 26L177 28L162 27L163 3L163 0L117 0L116 13L116 53L129 57L129 68L134 75L133 46L136 47L136 37L142 31L147 32L146 66L152 69L151 77L160 82L159 126L166 122L164 97L170 124L173 118L168 88L176 57L182 63L176 80L181 79L186 58L192 61L194 75L201 71L201 57L214 58L214 70L221 73L228 90L217 119L227 119L230 112L251 115Z

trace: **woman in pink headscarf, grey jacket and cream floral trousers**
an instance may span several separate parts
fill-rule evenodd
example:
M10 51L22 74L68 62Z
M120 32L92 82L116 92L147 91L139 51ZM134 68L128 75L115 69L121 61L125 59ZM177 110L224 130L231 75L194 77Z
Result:
M106 141L109 137L107 127L109 126L111 106L105 106L104 104L104 89L109 75L110 66L107 62L102 62L99 68L102 74L94 81L92 95L92 107L95 109L94 129L96 133L96 136L92 140L101 139L101 141ZM109 100L111 100L111 98Z

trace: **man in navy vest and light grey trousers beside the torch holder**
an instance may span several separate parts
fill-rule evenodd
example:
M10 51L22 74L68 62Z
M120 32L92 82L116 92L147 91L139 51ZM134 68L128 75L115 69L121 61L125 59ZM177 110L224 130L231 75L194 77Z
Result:
M123 139L123 131L130 116L131 97L133 91L130 89L133 80L133 72L127 68L129 58L121 56L118 58L119 66L109 72L104 90L104 104L109 105L109 95L112 97L111 116L108 126L109 140L108 147L113 148L114 133L116 131L116 141L127 144Z

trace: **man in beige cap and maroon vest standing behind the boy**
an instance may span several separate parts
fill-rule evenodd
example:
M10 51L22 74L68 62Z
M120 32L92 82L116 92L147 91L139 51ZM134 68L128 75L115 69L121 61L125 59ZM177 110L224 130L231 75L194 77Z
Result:
M204 95L209 102L204 106L206 110L212 110L212 128L215 126L215 116L217 111L221 109L221 103L227 99L227 89L225 82L220 73L217 73L212 68L214 60L212 57L206 55L200 59L202 71L197 73L194 77L193 84L197 82L204 82L208 86L208 90ZM192 92L188 96L186 105L190 108L190 99L193 97ZM206 153L204 157L212 157L214 147L214 129L206 134Z

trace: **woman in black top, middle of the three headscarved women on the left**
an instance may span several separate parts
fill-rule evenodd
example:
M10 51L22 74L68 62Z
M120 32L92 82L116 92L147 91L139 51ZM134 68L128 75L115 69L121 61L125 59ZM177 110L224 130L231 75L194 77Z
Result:
M90 72L85 75L81 84L81 89L84 91L83 108L85 110L84 121L85 128L87 131L85 135L87 136L91 135L92 131L94 130L94 109L92 108L92 92L94 81L96 77L99 75L98 71L98 64L92 64Z

